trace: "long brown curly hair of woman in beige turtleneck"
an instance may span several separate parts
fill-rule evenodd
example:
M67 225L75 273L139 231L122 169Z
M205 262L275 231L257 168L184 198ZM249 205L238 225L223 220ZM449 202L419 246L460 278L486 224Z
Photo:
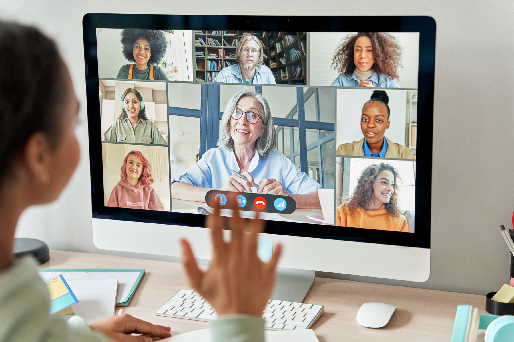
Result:
M401 66L401 47L396 38L389 33L358 32L354 35L347 35L337 47L331 67L344 73L345 76L355 71L353 51L359 37L368 37L371 40L374 61L371 70L392 79L399 79L397 69Z

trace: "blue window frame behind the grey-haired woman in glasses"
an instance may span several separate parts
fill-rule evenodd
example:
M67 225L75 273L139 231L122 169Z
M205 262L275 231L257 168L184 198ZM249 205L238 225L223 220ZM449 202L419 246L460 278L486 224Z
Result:
M262 94L262 86L255 86L255 92ZM323 144L334 140L334 127L333 123L320 122L320 110L319 110L319 97L318 88L309 88L304 93L304 88L296 88L297 105L293 108L286 117L273 117L273 124L278 127L277 129L277 140L282 139L282 153L286 155L291 162L295 163L297 157L300 157L300 170L309 174L309 167L307 163L307 151L317 149L319 170L316 172L319 183L325 187L325 183L333 185L334 180L325 180L323 175ZM316 108L316 121L305 120L305 102L311 97L315 96L315 108ZM201 102L200 109L189 109L179 107L169 107L170 115L179 116L190 116L200 118L200 132L206 132L206 134L200 134L200 158L207 152L207 150L217 147L216 142L219 138L219 119L222 118L223 112L219 111L219 85L218 84L202 84L201 85ZM335 113L334 113L335 115ZM293 118L295 117L296 118ZM290 151L286 154L284 149L284 129L283 127L290 127L289 129L289 142ZM295 134L293 130L298 129L298 149L295 150ZM310 143L307 146L307 135L306 130L312 129L317 130L317 139L315 142ZM332 131L329 134L323 134L322 131ZM277 149L279 144L277 144ZM335 158L335 151L334 151ZM328 181L328 182L326 182Z

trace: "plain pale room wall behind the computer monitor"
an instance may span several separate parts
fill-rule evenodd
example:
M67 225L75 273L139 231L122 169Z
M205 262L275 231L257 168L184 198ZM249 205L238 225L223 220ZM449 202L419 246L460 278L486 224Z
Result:
M52 249L155 259L178 258L99 250L91 234L82 17L88 12L120 13L139 1L0 0L0 16L34 24L60 46L82 104L77 128L82 159L70 184L52 204L30 208L16 232L45 240ZM242 15L240 2L148 0L142 13ZM254 15L270 14L263 0ZM363 10L365 9L365 11ZM288 15L430 15L437 22L432 171L431 273L425 283L318 273L437 290L485 294L508 281L509 255L498 226L510 226L514 178L514 5L510 0L376 2L297 0ZM498 63L500 53L501 64ZM491 70L494 70L492 72ZM485 177L484 175L487 175Z

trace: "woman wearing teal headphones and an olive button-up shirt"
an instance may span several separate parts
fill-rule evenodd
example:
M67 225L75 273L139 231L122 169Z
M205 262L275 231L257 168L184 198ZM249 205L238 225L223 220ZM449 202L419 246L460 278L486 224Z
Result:
M106 142L168 145L155 124L146 118L143 94L134 88L121 95L121 114L103 136Z

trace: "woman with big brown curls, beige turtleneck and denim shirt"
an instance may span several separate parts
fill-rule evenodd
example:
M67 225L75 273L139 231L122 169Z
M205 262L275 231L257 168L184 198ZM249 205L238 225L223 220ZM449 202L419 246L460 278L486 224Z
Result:
M358 32L337 48L332 66L341 72L336 87L399 88L401 47L389 33Z

